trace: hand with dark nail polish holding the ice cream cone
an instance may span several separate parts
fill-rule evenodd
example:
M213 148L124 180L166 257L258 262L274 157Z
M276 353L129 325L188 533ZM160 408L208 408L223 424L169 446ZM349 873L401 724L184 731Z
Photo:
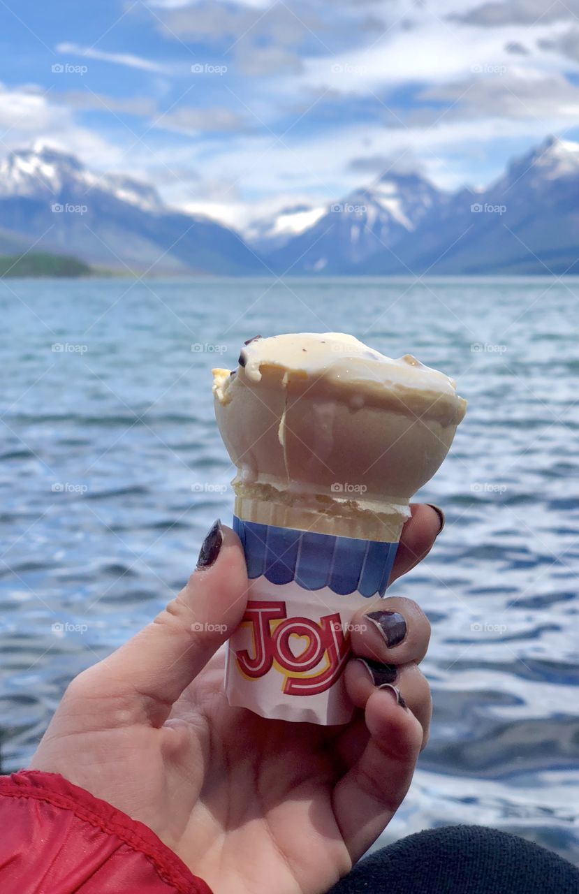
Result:
M411 508L391 580L439 532L434 510ZM402 616L395 639L404 622L407 632L389 647L381 619L355 619L354 654L371 661L348 662L354 719L264 720L223 693L223 650L215 653L222 626L231 631L243 615L247 577L229 528L215 528L211 547L213 563L152 624L72 680L30 767L62 773L145 822L216 894L317 894L348 873L407 792L431 715L416 666L430 626L410 600L373 602L366 613ZM372 672L380 682L396 670L407 707L392 687L373 685Z

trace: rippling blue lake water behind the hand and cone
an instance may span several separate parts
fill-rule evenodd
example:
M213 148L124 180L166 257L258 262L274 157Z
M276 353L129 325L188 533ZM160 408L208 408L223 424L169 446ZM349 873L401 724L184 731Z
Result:
M4 772L71 677L151 619L206 528L231 519L211 367L235 366L256 333L344 331L444 370L469 401L416 498L447 526L391 591L432 621L434 717L384 840L479 822L576 858L578 292L574 279L0 283Z

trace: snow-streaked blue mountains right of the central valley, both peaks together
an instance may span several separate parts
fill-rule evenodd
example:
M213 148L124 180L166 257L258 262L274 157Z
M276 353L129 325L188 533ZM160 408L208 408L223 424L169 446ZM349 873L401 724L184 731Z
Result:
M550 137L485 190L417 174L357 190L265 259L279 272L579 273L579 144ZM262 244L264 250L264 244Z

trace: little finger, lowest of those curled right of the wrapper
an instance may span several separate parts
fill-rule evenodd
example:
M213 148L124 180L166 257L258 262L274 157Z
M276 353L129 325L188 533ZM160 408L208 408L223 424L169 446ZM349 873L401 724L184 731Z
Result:
M423 730L390 688L373 689L365 704L370 739L333 791L333 809L353 861L386 828L407 793Z

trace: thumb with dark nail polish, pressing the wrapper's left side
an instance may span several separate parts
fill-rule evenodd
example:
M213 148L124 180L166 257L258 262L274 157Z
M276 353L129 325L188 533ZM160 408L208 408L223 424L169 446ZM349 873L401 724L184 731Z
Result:
M146 628L104 662L80 674L82 696L122 704L126 720L161 726L172 704L237 627L247 602L248 578L239 538L219 522L180 594Z

